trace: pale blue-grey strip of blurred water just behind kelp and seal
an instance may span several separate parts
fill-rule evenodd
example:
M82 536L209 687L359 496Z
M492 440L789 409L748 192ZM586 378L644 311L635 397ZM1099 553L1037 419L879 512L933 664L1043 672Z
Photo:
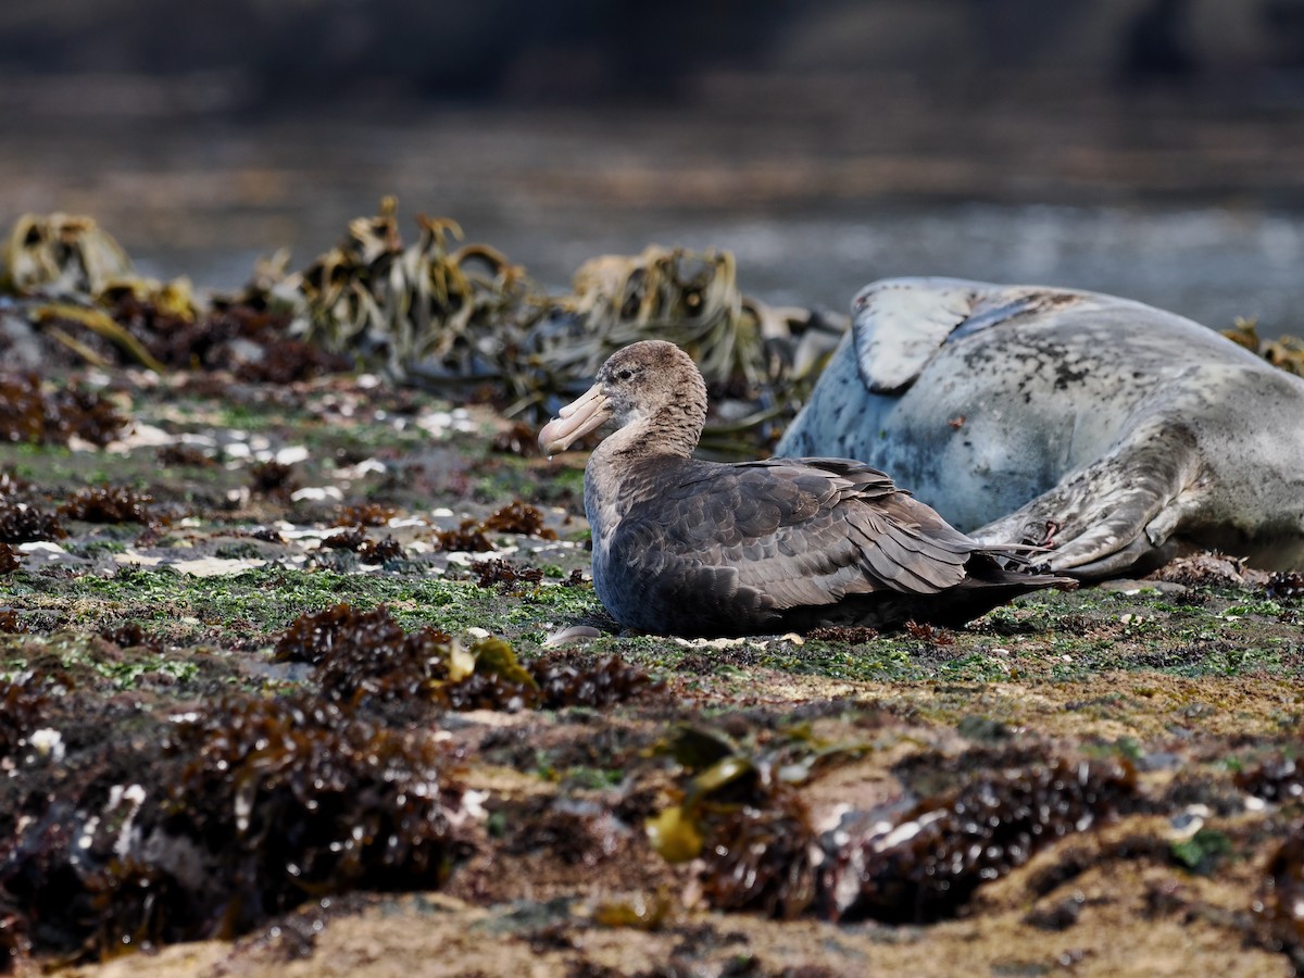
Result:
M336 227L348 216L340 213ZM288 218L293 222L295 215ZM338 236L313 233L312 223L305 215L295 222L303 227L300 235L284 239L296 256L316 254ZM585 258L632 254L657 243L733 250L743 289L778 305L845 312L854 292L875 278L953 275L1098 289L1218 329L1236 317L1253 317L1262 335L1304 334L1300 214L951 205L855 216L557 213L541 223L503 218L464 223L469 237L505 250L557 291ZM142 243L132 253L146 274L185 274L224 289L248 278L259 249Z

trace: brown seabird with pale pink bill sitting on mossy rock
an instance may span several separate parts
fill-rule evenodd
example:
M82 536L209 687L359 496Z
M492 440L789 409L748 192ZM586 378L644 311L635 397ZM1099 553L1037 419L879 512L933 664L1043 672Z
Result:
M696 365L651 340L614 353L539 433L550 455L617 424L584 471L584 509L593 587L626 627L961 625L1028 591L1073 587L1020 570L1026 548L978 544L859 462L694 459L705 419Z

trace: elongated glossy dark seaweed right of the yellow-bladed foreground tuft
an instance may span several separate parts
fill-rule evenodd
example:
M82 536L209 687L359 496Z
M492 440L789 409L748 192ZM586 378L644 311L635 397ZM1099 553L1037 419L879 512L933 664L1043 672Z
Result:
M982 773L900 818L855 812L825 838L824 915L897 923L949 917L982 883L1125 810L1136 788L1124 760L1056 759Z

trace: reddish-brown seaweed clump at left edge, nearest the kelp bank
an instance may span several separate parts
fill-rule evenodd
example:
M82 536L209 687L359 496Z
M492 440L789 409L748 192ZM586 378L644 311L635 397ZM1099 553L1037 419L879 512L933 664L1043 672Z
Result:
M104 446L126 424L111 402L93 391L67 387L47 395L35 374L0 374L0 441L67 445L76 436Z

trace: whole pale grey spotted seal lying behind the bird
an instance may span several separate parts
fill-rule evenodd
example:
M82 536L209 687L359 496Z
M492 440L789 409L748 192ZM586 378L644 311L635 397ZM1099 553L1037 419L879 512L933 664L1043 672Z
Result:
M1304 566L1304 381L1115 296L889 279L777 452L891 473L956 527L1091 578L1218 546Z

